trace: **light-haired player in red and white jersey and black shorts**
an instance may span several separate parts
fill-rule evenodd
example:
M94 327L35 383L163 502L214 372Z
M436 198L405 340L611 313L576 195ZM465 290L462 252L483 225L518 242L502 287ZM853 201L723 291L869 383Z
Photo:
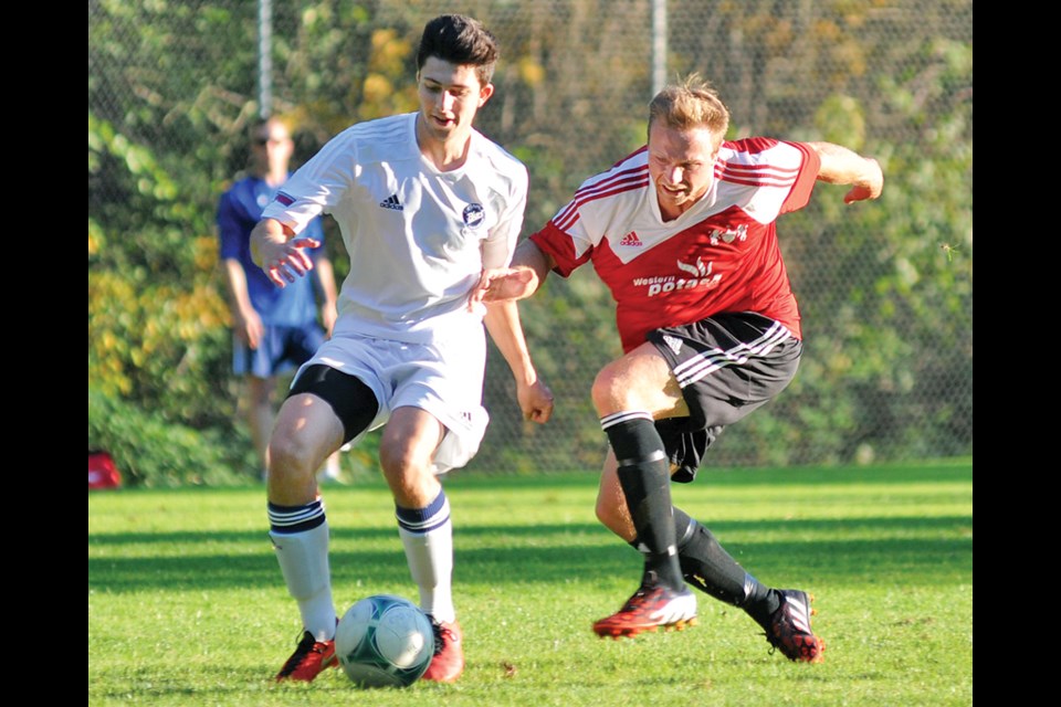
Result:
M693 623L685 582L740 606L792 661L822 659L811 598L748 574L671 504L670 479L693 481L722 430L791 381L802 349L799 310L775 220L801 209L816 181L875 199L872 158L829 143L726 141L729 113L696 75L649 106L648 145L582 183L524 241L513 268L486 273L473 300L530 295L550 270L592 262L617 303L623 356L598 373L592 399L610 442L597 516L639 549L641 585L601 636Z

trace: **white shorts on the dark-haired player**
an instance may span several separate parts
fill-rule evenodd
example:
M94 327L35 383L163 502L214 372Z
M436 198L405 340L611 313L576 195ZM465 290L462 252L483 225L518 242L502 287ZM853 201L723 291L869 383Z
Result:
M445 434L434 453L435 474L464 466L479 452L490 421L483 408L482 328L461 340L432 344L338 336L325 341L303 368L314 365L355 376L371 389L379 412L365 432L387 424L391 412L405 407L419 408L441 422Z

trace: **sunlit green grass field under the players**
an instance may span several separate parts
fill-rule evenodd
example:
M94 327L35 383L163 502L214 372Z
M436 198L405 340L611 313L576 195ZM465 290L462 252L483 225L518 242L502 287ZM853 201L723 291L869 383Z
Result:
M452 475L455 685L360 690L342 671L271 677L297 609L262 487L88 495L90 705L971 705L973 463L701 472L675 504L761 581L817 595L826 662L769 654L742 611L628 641L592 620L635 589L639 556L593 517L596 474ZM325 493L339 613L416 599L381 481Z

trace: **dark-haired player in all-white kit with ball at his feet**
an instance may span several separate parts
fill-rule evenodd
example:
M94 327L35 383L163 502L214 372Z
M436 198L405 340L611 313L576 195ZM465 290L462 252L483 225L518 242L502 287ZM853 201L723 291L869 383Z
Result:
M322 212L338 222L350 256L332 338L300 369L270 440L270 536L303 622L279 680L308 682L337 662L328 524L314 471L384 424L380 466L435 631L423 679L453 682L463 671L450 505L435 474L464 465L486 426L484 320L524 415L540 423L553 411L515 304L469 303L484 271L508 264L527 198L526 168L472 127L494 92L497 55L477 21L431 20L417 55L419 112L336 136L254 229L255 262L281 287L312 267L313 242L298 234Z

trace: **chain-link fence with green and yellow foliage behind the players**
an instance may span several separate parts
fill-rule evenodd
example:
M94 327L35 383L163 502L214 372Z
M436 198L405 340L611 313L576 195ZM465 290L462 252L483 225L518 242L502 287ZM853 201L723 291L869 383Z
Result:
M354 122L414 109L423 23L477 17L503 51L477 127L530 170L525 234L643 144L661 48L668 80L697 71L716 85L731 137L826 139L878 157L881 200L844 208L844 190L820 184L810 207L779 221L802 369L723 435L710 463L971 454L971 0L670 0L665 25L654 6L274 1L265 95L305 159ZM88 3L90 388L199 426L223 428L232 407L212 215L262 109L259 10L250 0ZM146 288L150 302L129 304ZM619 352L609 296L582 268L550 278L522 313L556 416L525 424L495 356L493 422L470 468L596 467L605 439L589 388ZM172 340L148 337L175 321L187 326L174 324Z

